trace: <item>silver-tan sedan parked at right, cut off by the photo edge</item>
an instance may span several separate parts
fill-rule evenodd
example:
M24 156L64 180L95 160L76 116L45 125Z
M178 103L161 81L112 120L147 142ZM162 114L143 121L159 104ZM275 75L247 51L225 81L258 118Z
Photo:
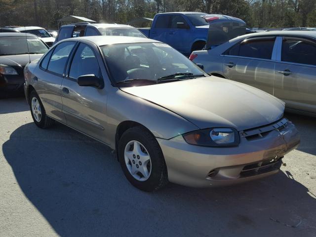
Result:
M271 31L230 40L190 58L212 75L246 83L316 115L316 32Z

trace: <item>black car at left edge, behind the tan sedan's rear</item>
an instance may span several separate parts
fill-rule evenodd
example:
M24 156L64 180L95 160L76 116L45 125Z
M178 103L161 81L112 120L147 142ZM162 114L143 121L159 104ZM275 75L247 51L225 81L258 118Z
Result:
M25 33L0 33L0 98L23 92L23 70L48 50L38 37Z

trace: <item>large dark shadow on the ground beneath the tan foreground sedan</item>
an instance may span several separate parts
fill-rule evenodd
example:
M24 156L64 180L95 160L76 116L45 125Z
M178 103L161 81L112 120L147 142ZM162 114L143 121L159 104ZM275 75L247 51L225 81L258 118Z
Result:
M316 197L285 173L216 189L132 187L111 149L62 124L3 146L25 196L60 236L315 236ZM295 226L291 228L290 226Z

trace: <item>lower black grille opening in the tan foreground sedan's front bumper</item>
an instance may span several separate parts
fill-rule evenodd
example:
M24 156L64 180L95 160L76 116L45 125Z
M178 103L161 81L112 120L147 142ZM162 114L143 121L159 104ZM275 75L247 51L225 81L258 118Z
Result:
M263 174L279 169L282 164L282 157L266 159L257 163L252 163L243 167L240 176L249 177L253 175Z

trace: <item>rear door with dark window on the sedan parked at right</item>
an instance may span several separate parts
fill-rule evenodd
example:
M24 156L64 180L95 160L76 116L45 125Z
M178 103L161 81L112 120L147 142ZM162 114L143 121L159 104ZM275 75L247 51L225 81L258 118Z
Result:
M226 50L224 75L273 94L275 40L276 37L246 39Z

